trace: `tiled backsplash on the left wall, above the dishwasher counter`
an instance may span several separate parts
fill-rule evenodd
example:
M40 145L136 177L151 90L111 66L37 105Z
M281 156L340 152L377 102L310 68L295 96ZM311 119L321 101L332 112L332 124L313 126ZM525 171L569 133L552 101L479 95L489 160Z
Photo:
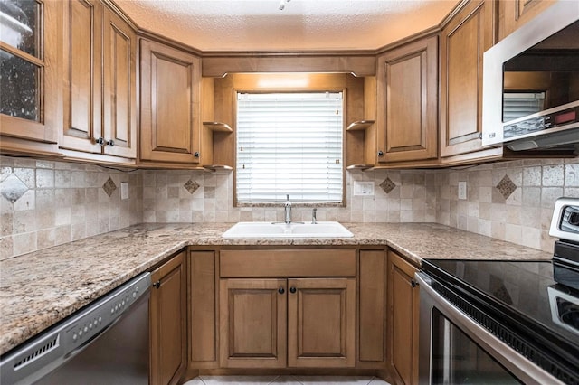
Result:
M142 195L140 172L0 156L0 258L142 222Z

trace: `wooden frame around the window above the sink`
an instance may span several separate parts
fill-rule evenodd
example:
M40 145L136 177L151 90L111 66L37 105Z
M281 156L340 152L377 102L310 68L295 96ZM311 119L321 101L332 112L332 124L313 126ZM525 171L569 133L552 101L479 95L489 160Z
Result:
M346 207L346 122L347 122L347 89L345 87L324 88L233 88L233 164L237 164L237 98L240 93L268 94L268 93L342 93L342 199L341 202L292 202L294 207ZM289 196L291 201L291 196ZM233 207L279 207L285 202L239 202L237 200L237 167L233 169Z

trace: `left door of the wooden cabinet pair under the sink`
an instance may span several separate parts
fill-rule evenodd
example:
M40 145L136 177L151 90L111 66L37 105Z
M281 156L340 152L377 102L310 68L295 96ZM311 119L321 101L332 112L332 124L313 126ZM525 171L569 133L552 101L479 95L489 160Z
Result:
M285 279L222 279L223 368L285 368Z

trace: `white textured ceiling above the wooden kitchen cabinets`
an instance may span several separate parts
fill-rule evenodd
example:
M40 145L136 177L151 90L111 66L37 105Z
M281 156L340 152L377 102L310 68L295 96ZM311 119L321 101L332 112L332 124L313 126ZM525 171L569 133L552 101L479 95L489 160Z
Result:
M280 11L280 1L285 9ZM117 0L139 27L201 51L375 50L459 0Z

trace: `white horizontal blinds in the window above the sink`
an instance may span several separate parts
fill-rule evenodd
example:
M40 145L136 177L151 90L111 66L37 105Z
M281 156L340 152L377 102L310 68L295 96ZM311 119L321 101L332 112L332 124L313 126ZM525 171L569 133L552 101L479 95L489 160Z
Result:
M237 202L342 202L341 92L237 94Z

